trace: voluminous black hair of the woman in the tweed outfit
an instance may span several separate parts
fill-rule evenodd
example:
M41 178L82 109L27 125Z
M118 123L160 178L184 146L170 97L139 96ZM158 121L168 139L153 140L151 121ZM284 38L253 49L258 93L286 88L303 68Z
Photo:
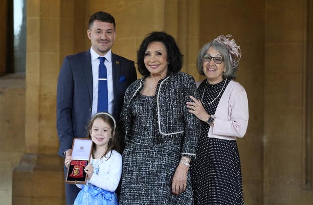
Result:
M181 54L175 39L164 31L154 31L145 37L139 46L139 50L137 51L137 65L140 74L144 77L148 77L150 75L149 70L145 66L144 58L147 47L152 42L160 42L165 46L167 61L169 63L167 67L167 75L179 72L182 67L183 55Z

